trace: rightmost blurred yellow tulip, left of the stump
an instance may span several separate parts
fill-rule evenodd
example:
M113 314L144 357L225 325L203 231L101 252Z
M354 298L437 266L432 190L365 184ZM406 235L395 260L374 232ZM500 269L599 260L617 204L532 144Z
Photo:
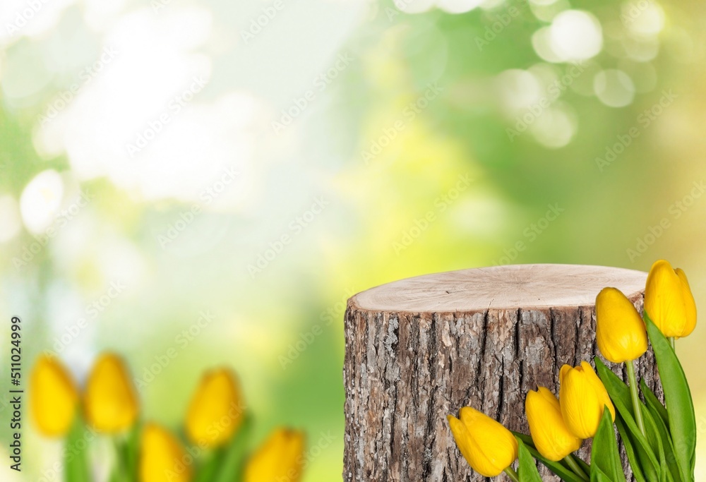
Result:
M304 433L278 428L249 460L245 482L301 481L304 444Z

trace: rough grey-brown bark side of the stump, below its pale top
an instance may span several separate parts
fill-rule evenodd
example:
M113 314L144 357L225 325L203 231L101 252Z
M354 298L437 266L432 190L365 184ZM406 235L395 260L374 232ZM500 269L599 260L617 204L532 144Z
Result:
M641 310L641 292L630 298ZM414 313L361 308L354 296L345 314L344 481L489 480L458 452L446 414L474 406L529 433L525 394L538 385L558 393L564 363L592 363L595 326L592 304ZM652 351L637 371L662 397ZM580 455L589 454L585 442ZM544 481L558 481L540 471Z

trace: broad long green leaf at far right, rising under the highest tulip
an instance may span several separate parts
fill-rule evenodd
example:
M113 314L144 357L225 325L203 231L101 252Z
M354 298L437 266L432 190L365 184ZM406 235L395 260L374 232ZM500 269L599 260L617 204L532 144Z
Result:
M693 481L693 466L696 459L696 416L689 384L669 341L652 323L647 313L645 313L645 325L647 325L647 336L650 337L654 358L657 359L659 380L664 388L669 433L675 445L676 462L682 479Z

